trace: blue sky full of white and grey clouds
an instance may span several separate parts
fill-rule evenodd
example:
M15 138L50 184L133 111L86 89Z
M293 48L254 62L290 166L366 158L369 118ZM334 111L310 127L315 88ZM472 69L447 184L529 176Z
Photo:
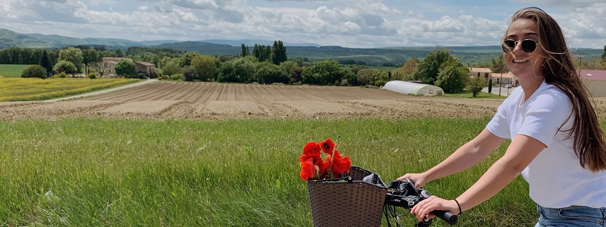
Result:
M0 0L0 28L133 41L498 45L508 18L530 6L556 18L570 47L606 45L604 0Z

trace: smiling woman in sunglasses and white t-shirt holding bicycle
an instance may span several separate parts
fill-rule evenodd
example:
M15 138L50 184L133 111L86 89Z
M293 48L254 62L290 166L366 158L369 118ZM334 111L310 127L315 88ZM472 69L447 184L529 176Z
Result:
M539 8L524 8L511 18L502 41L516 88L487 127L448 159L418 174L421 187L484 160L505 139L504 156L471 188L453 200L432 196L411 213L459 214L501 191L519 174L537 203L536 226L606 226L606 144L589 95L574 68L561 28ZM577 114L573 114L577 113Z

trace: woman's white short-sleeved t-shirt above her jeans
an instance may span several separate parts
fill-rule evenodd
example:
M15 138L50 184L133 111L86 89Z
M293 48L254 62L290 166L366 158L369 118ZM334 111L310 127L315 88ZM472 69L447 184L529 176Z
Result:
M572 102L558 87L542 82L524 101L524 90L515 88L497 109L487 129L512 139L517 134L533 137L547 145L522 171L530 187L530 198L545 208L572 205L606 206L606 171L591 173L582 168L574 154L574 137L565 140L574 123ZM558 131L568 116L570 119Z

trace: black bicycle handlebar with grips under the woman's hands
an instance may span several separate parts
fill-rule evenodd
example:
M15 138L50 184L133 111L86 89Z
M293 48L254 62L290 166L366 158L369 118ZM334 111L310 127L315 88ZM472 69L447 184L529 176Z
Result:
M399 206L406 209L412 209L417 203L431 196L428 191L420 188L417 189L415 182L409 179L393 180L390 182L388 188L393 190L387 191L385 205ZM448 211L435 210L430 213L444 220L448 225L456 225L458 222L457 215Z

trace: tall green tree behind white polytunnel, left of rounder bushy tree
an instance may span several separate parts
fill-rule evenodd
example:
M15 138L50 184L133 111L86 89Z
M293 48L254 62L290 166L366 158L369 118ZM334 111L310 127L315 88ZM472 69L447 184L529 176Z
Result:
M439 67L448 60L450 53L448 50L434 50L427 54L422 61L419 61L417 70L413 73L413 79L421 81L423 84L433 85L438 79Z

